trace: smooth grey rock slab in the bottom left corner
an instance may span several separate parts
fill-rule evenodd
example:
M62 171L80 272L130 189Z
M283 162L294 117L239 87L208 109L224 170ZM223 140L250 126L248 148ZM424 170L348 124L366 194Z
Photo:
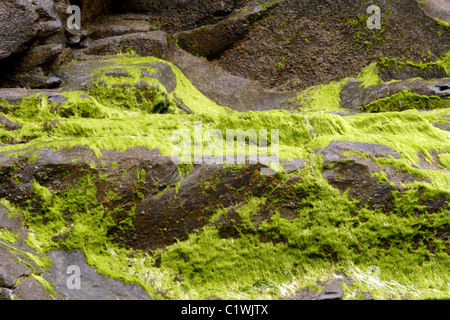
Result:
M141 287L124 284L98 274L89 266L81 251L50 251L47 256L52 265L47 270L38 267L24 253L39 254L30 248L24 239L27 230L20 219L11 218L8 210L0 206L0 232L9 230L19 234L16 243L0 240L0 300L148 300L150 297ZM14 248L14 250L10 249ZM80 270L81 287L70 288L67 284L71 273L70 266ZM52 284L52 291L44 287L35 276L42 276Z

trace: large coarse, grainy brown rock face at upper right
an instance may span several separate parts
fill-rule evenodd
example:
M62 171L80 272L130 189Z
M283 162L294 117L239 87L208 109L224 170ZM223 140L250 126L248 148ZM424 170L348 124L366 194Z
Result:
M268 8L268 18L254 22L243 38L216 58L214 64L269 88L298 90L356 77L364 67L379 61L379 57L431 62L448 51L445 45L450 41L448 28L428 17L416 0L377 5L381 12L405 14L386 17L384 33L377 33L375 40L371 33L365 33L365 21L354 26L348 23L349 19L365 14L366 3L338 0L317 6L307 1L277 1ZM388 27L400 24L401 29ZM424 57L424 51L429 51L430 56ZM447 76L439 68L431 72L408 69L381 70L380 76L385 81Z

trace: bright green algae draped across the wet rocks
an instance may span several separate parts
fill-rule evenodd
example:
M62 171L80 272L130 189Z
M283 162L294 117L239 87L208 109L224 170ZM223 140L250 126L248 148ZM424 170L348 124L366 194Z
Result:
M419 198L450 199L450 174L417 168L419 152L430 163L434 161L432 153L441 152L439 165L450 166L450 132L433 126L435 122L450 123L445 117L450 115L447 104L425 112L405 110L346 117L324 113L342 111L339 92L347 81L342 80L315 91L310 89L308 92L313 93L302 101L304 110L298 113L239 113L207 99L171 65L178 83L174 92L195 114L185 114L178 109L173 95L168 98L168 109L173 113L160 114L160 110L153 108L161 103L163 96L166 98L167 90L160 83L156 100L145 101L145 97L140 96L140 106L138 100L133 100L137 99L137 91L127 92L112 85L140 80L156 85L155 80L143 79L137 71L143 63L162 61L129 57L115 61L131 77L109 79L100 73L97 84L104 80L106 86L87 92L63 93L67 100L58 107L43 96L24 99L16 106L4 103L11 111L7 116L23 127L18 131L0 128L1 141L29 142L3 146L0 150L11 156L35 150L31 161L39 161L42 147L59 149L76 145L90 147L97 156L101 156L101 149L126 150L135 146L158 148L163 155L170 156L172 133L186 129L193 134L195 122L200 121L203 132L208 129L221 132L279 129L280 158L301 158L307 160L308 165L290 175L280 172L276 187L260 198L247 198L237 211L242 221L236 225L239 237L222 239L220 225L210 225L191 234L187 241L150 252L126 249L108 232L114 228L132 228L134 212L131 210L129 218L114 222L115 213L97 200L96 183L102 177L88 174L73 188L58 193L35 182L33 201L20 209L8 205L10 211L20 210L25 215L30 246L41 253L58 247L82 249L88 263L100 273L142 285L149 295L162 299L209 296L271 299L313 286L316 280L329 278L337 271L355 280L353 286L345 286L346 299L358 298L358 290L370 291L379 299L389 295L394 299L403 295L417 299L450 297L450 256L447 253L450 242L438 236L448 228L450 209L443 208L431 214L419 203ZM379 78L373 76L376 73L370 73L373 67L369 66L359 76L366 86L380 83ZM79 94L89 98L80 98ZM59 122L45 131L45 124L53 121ZM391 213L368 208L358 211L358 201L341 195L321 176L322 157L314 154L314 150L334 140L389 146L401 153L400 158L374 159L377 165L392 166L428 181L404 185L407 192L394 193L395 206ZM187 165L180 170L189 174L189 168ZM287 220L274 210L268 220L254 226L252 217L267 204L270 195L294 175L300 179L277 201L303 194L296 204L297 217ZM380 183L390 183L386 175L375 175ZM142 173L137 174L136 179L142 180ZM213 186L214 183L209 182L205 190ZM110 195L114 197L113 193ZM3 203L7 202L3 200ZM212 222L227 215L227 208L211 209L215 211ZM67 213L71 216L70 223L65 216ZM67 234L63 241L52 240L61 234ZM261 241L261 234L274 241ZM3 234L3 240L14 241L14 237ZM430 246L434 252L428 250ZM156 267L158 259L160 266ZM373 265L380 268L379 278L366 272Z

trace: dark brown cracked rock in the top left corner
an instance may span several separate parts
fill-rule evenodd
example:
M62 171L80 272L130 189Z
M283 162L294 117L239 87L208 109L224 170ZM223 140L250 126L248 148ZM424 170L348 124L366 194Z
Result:
M3 1L0 5L1 87L45 87L66 53L65 0Z

